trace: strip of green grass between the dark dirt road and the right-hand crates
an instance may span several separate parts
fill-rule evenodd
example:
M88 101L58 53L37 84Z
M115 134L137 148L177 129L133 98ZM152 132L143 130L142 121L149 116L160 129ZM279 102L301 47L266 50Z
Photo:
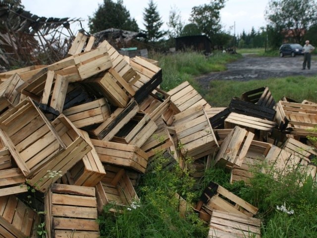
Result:
M317 102L317 76L291 76L250 81L212 80L207 90L201 90L203 97L213 107L227 107L232 97L267 86L275 101L283 96L302 102L304 99Z

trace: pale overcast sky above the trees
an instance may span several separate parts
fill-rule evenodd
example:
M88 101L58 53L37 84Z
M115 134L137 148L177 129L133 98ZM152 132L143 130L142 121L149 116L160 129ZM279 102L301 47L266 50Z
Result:
M113 0L116 1L116 0ZM85 20L83 27L87 27L88 16L93 16L102 4L103 0L21 0L25 10L38 16L45 17L70 17ZM188 22L193 6L209 3L209 0L154 0L158 6L158 11L163 22L168 21L171 8L176 6L181 12L182 21ZM225 7L221 10L221 23L224 29L231 34L241 34L251 31L252 26L255 30L265 26L264 10L268 0L227 0ZM148 7L149 0L123 0L124 6L129 10L131 17L137 20L139 28L145 29L143 25L144 8ZM164 24L163 28L167 30Z

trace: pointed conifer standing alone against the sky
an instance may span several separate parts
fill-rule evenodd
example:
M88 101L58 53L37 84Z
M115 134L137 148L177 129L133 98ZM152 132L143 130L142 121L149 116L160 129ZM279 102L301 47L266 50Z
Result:
M146 34L151 42L154 43L165 35L164 31L159 30L163 25L163 22L159 15L157 5L153 2L153 0L150 0L148 8L144 9L143 20L143 24L146 28Z

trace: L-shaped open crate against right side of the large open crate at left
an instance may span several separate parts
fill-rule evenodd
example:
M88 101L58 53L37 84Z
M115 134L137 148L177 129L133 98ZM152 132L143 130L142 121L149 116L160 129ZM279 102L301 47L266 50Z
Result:
M47 191L50 185L58 179L58 177L50 178L48 176L50 172L59 171L60 176L64 175L92 150L90 143L64 115L61 114L54 119L52 125L62 142L58 146L62 146L62 148L59 148L57 153L53 154L45 164L42 162L37 164L37 170L27 176L28 183L36 185L36 189L42 192Z

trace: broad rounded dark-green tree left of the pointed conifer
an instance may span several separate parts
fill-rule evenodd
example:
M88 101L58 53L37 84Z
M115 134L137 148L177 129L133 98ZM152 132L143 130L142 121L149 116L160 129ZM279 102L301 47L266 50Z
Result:
M123 5L123 0L104 0L103 4L92 17L89 18L90 33L106 30L108 28L118 28L127 31L139 31L138 24L131 18L130 12Z

